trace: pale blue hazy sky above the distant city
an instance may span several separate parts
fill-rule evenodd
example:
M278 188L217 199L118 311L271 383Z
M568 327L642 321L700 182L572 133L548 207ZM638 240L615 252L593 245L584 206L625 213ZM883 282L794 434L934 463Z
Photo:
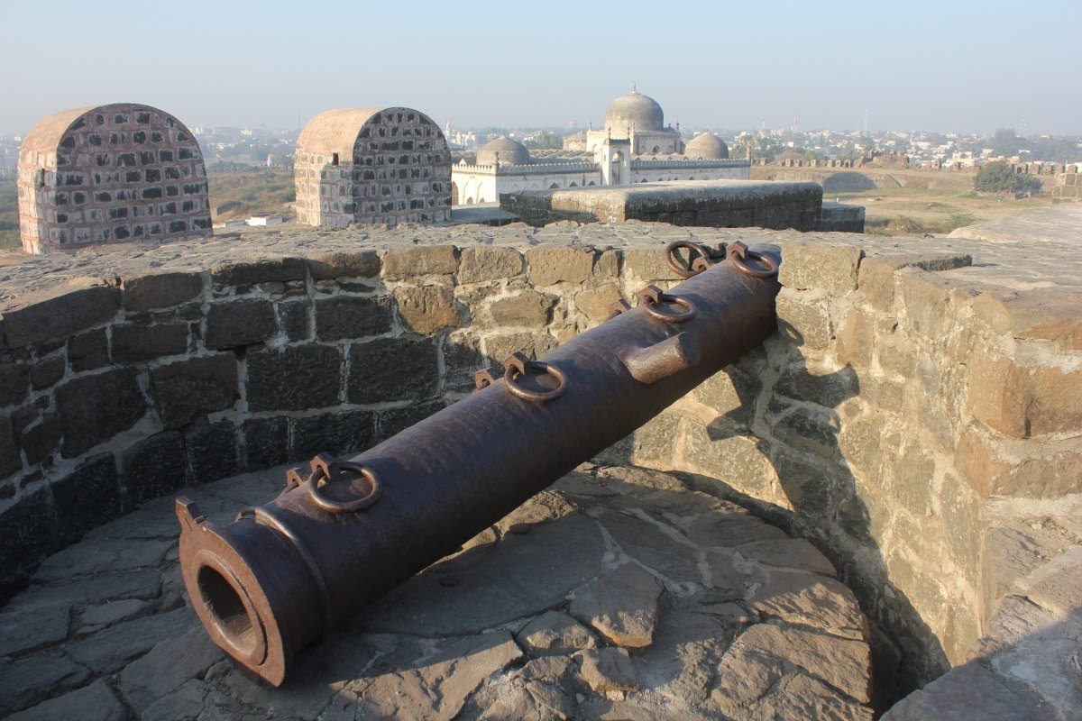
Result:
M404 105L440 125L601 124L638 90L691 128L1082 135L1082 0L0 0L0 133L136 102L296 128ZM1022 126L1025 120L1025 126Z

